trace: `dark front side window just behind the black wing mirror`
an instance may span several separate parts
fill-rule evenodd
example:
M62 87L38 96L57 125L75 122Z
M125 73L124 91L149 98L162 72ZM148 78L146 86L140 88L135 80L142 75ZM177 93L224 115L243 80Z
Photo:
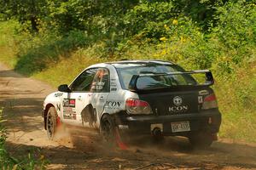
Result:
M72 83L71 90L72 91L79 91L79 92L88 92L90 91L90 85L95 77L96 68L89 69L84 71L82 74L77 77L77 79Z

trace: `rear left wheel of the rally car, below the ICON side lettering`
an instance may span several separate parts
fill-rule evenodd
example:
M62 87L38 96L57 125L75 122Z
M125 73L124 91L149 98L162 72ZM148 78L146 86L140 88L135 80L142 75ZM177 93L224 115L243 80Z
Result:
M115 139L115 124L113 118L109 115L103 115L100 125L100 133L104 142L114 144Z

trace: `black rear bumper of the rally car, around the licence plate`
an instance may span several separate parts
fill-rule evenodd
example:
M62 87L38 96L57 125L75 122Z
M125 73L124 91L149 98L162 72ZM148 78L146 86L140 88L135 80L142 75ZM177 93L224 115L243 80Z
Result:
M155 127L159 127L163 135L188 136L199 131L218 133L221 114L218 109L213 109L200 113L167 116L114 116L114 119L119 128L127 129L132 133L150 134ZM189 131L172 132L172 122L189 122Z

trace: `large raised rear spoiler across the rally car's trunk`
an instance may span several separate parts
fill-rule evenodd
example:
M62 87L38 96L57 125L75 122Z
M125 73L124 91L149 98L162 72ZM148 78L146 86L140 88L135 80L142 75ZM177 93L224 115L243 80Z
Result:
M212 71L209 70L199 70L199 71L176 71L176 72L168 72L168 73L160 73L160 74L140 74L140 75L133 75L131 77L131 81L129 83L128 89L130 91L137 91L137 79L139 77L159 77L159 76L171 76L171 75L184 75L184 74L198 74L198 73L205 73L206 74L206 82L202 84L203 86L211 86L214 84L214 80L212 77Z

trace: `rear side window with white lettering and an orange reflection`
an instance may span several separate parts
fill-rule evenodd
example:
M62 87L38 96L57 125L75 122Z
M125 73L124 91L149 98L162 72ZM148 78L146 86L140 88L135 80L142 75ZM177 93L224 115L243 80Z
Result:
M109 92L109 71L106 68L99 68L91 83L90 92Z

